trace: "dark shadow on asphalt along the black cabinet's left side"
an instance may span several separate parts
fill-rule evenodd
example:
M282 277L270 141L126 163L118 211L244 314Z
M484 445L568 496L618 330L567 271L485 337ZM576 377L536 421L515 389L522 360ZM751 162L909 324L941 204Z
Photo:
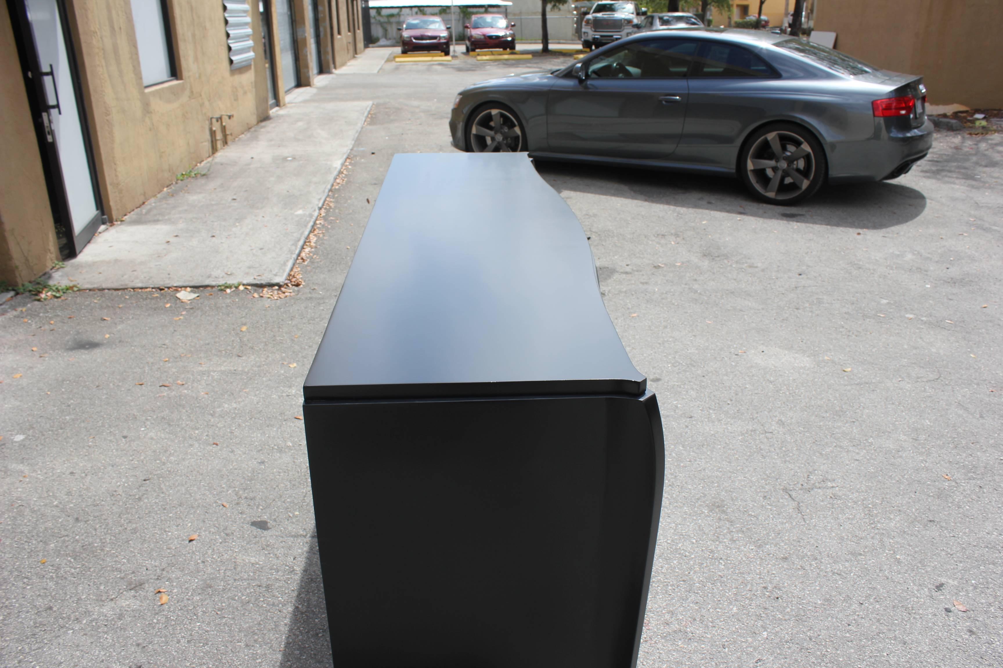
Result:
M296 604L284 647L280 668L324 668L332 665L316 533L310 536L310 547L296 590Z

